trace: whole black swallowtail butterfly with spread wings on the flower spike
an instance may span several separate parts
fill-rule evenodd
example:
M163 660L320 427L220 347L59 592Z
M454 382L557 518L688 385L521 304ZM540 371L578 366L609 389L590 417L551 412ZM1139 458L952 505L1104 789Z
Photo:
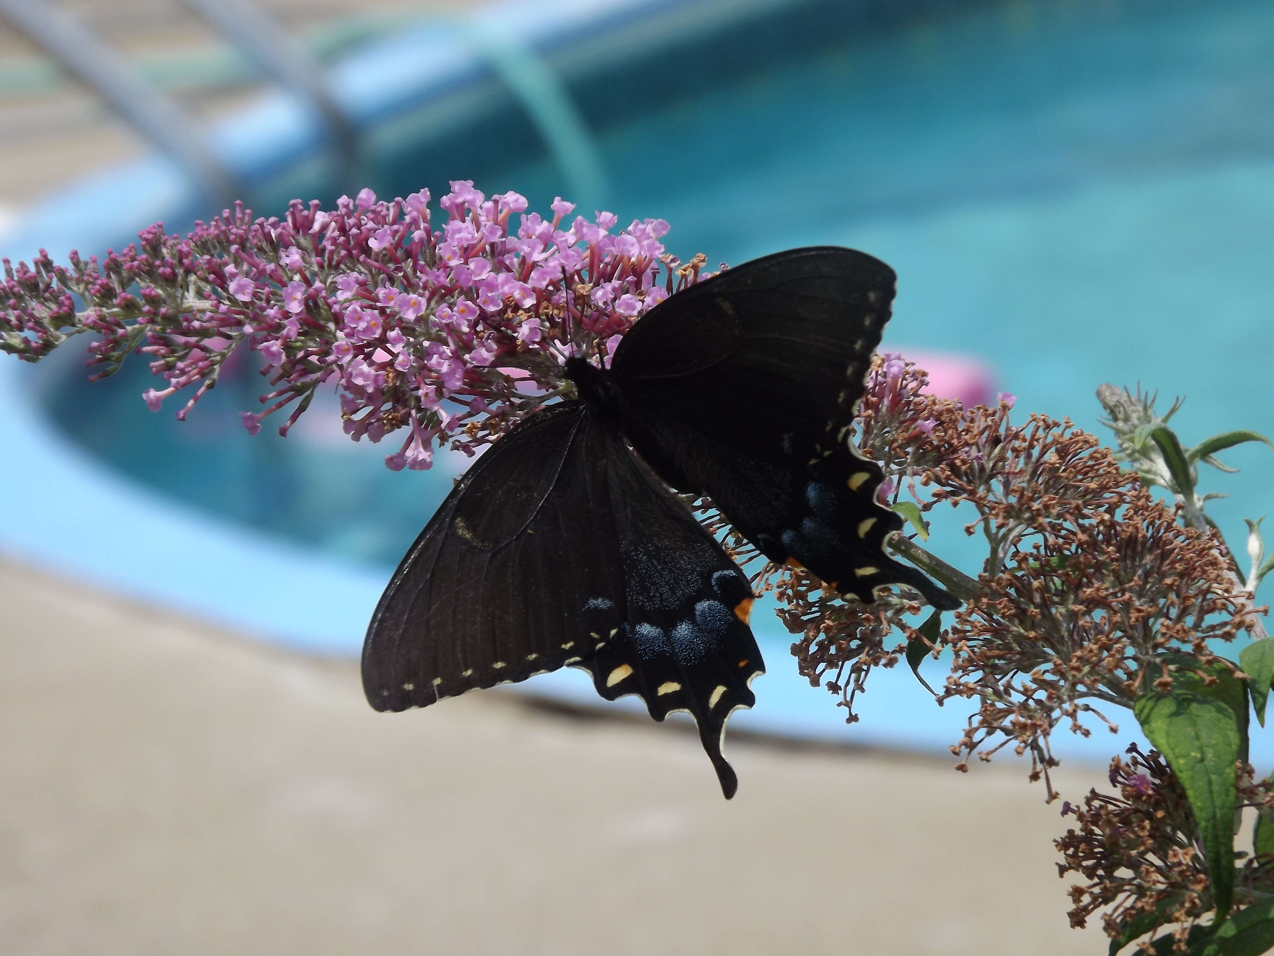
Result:
M894 274L847 249L780 252L652 308L578 398L480 458L403 558L372 617L377 710L585 668L606 700L698 724L725 795L725 723L764 673L748 577L668 486L706 495L771 561L861 600L905 584L958 602L884 551L902 519L846 441ZM633 454L636 451L637 454Z

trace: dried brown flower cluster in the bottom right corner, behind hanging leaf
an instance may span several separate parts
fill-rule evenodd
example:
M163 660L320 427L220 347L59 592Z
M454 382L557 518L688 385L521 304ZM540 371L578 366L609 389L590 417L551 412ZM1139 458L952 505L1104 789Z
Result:
M1056 840L1063 863L1059 876L1079 873L1087 885L1070 887L1075 904L1070 924L1084 927L1098 910L1111 938L1140 936L1147 920L1173 924L1173 948L1186 951L1190 931L1214 908L1203 841L1177 778L1156 752L1129 747L1129 758L1111 760L1110 780L1119 795L1091 790L1083 807L1063 804L1074 815L1071 829ZM1269 781L1254 781L1252 767L1240 764L1236 809L1269 809ZM1249 859L1238 886L1238 902L1274 888L1274 860ZM1145 932L1153 927L1145 925ZM1149 945L1143 950L1150 952Z

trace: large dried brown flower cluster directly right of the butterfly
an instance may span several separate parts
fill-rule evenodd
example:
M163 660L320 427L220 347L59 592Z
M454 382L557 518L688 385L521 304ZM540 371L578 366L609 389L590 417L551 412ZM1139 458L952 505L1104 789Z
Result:
M1061 720L1085 735L1085 714L1110 725L1096 705L1131 706L1139 674L1170 679L1157 660L1166 650L1209 662L1205 641L1235 637L1246 595L1219 537L1181 526L1094 436L1043 416L1014 426L1008 400L964 409L926 395L926 384L913 365L878 357L856 441L884 468L894 501L906 486L921 511L970 506L977 520L966 532L987 540L977 588L938 642L954 655L939 697L978 702L952 747L958 767L1012 743L1031 753L1032 779L1047 776ZM845 706L871 667L892 665L917 637L903 616L919 604L906 597L862 605L790 569L763 580L801 635L801 673L813 683L831 676Z

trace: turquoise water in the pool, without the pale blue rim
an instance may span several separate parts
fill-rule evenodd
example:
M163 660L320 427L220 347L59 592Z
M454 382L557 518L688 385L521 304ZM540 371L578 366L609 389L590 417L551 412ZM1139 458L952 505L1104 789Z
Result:
M1096 386L1140 382L1187 396L1187 441L1274 433L1274 8L1014 3L838 29L674 96L675 64L655 64L643 82L657 105L618 120L581 91L606 206L666 218L673 251L712 263L868 250L899 274L887 342L989 361L1023 412L1097 428ZM470 136L428 156L451 172ZM484 154L479 187L547 208L566 186L533 153ZM373 186L405 194L423 178L437 194L433 177L409 178L410 158L381 162ZM52 417L115 468L344 560L396 562L465 464L390 473L382 449L349 442L320 407L288 440L250 438L246 367L183 424L138 398L143 362L92 386L75 368L57 377ZM1206 478L1229 493L1213 509L1237 534L1274 506L1274 458L1226 458L1242 473ZM939 549L976 566L947 530Z

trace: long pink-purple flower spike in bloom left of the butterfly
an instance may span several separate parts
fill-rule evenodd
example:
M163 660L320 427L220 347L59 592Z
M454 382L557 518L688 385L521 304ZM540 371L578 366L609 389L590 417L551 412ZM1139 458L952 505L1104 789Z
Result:
M73 252L61 266L43 250L32 266L5 260L0 349L36 361L96 331L101 375L134 351L150 357L167 381L144 393L152 409L197 386L185 418L246 343L273 386L264 410L243 413L251 432L294 405L285 435L331 385L347 433L406 430L385 461L419 469L436 446L473 454L568 393L568 357L608 363L632 324L703 265L665 254L662 219L618 232L605 212L568 223L575 206L561 198L544 219L519 194L488 199L470 181L440 200L443 222L428 203L427 190L385 203L364 189L331 212L296 200L282 219L236 206L185 238L155 224L102 261Z

